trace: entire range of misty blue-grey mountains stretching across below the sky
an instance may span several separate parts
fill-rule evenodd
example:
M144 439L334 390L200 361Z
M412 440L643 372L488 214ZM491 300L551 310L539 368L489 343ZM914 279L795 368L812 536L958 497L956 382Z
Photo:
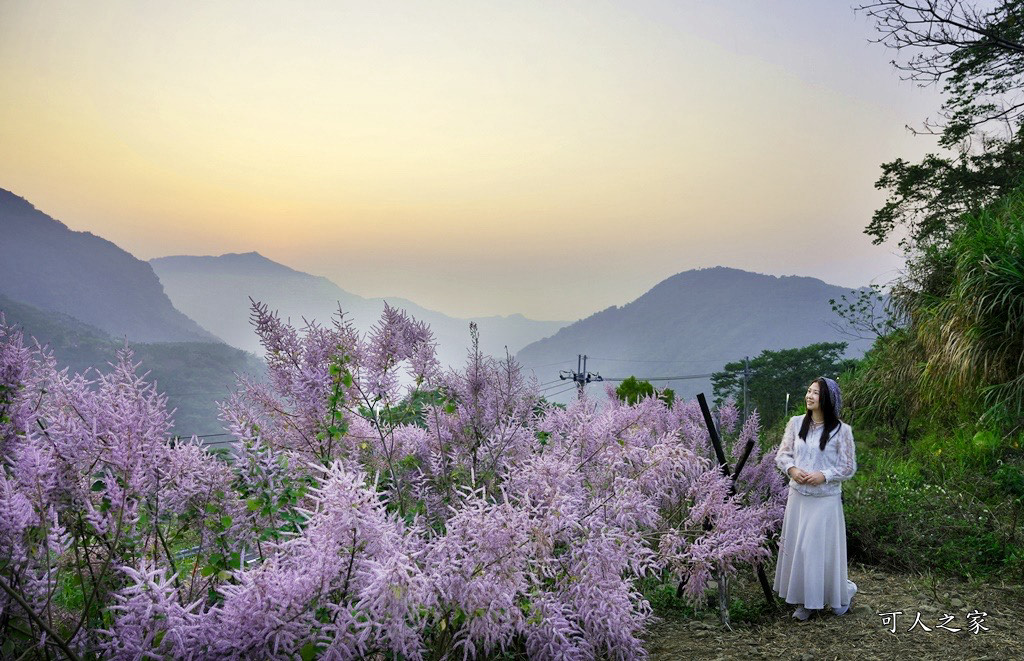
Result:
M160 372L161 389L171 382L179 391L167 390L171 406L179 408L178 422L183 415L188 421L184 433L219 429L213 399L224 398L233 372L261 368L261 360L245 353L262 355L249 323L250 297L297 325L303 318L330 323L340 307L364 332L377 321L385 301L346 292L258 253L144 262L99 236L70 230L3 189L0 255L0 297L5 297L0 309L8 322L51 344L58 361L76 369L104 363L126 341L136 346L142 369ZM546 384L547 396L566 401L573 391L558 381L558 372L574 368L577 354L588 354L588 370L608 378L692 376L764 349L847 341L829 323L835 313L827 301L848 293L816 278L717 267L679 273L635 301L570 324L520 314L472 320L486 353L501 356L507 347ZM463 364L471 319L400 298L387 303L430 324L442 363ZM166 343L184 344L161 348ZM867 346L851 343L848 355L858 356ZM222 378L211 373L211 364ZM684 396L710 393L707 379L655 385ZM589 392L601 397L600 386Z

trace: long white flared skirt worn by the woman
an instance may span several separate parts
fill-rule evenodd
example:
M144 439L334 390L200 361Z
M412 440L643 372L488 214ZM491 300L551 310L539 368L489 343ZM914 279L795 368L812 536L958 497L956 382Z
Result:
M806 496L790 487L774 587L786 603L807 609L850 603L846 517L840 495Z

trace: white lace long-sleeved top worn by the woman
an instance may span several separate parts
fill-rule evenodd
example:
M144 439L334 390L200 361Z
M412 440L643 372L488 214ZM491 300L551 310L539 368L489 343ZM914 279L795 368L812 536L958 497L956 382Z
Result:
M782 443L775 454L775 466L788 476L787 471L796 466L798 469L813 473L821 471L825 476L822 484L798 484L793 480L790 486L804 495L829 496L839 495L843 491L843 480L849 480L857 472L857 453L853 446L853 430L846 423L840 423L839 429L833 430L831 438L822 452L820 449L821 427L811 426L807 432L807 440L800 438L800 426L803 415L795 415L785 426Z

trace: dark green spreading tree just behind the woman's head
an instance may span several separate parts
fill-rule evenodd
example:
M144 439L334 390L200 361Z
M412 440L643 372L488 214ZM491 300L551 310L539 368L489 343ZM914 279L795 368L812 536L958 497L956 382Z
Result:
M746 380L748 406L757 408L762 424L768 428L785 414L785 395L795 402L791 410L799 410L807 386L821 376L835 376L852 368L856 361L843 358L845 342L820 342L800 349L762 351L751 360ZM728 398L742 403L742 360L730 362L722 371L712 374L715 401Z

